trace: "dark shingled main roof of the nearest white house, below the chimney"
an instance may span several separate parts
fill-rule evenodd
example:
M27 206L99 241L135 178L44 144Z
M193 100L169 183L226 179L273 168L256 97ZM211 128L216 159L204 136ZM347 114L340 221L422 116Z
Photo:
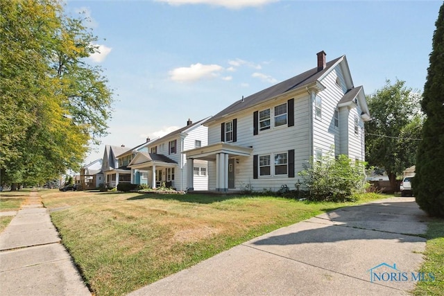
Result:
M214 115L212 119L207 122L216 121L223 116L227 116L234 112L239 112L241 110L246 110L250 107L258 105L259 103L263 103L268 101L268 99L273 98L274 96L278 96L280 94L284 94L285 92L289 92L293 89L298 89L300 87L305 87L310 83L316 82L320 78L324 76L325 73L329 72L332 68L336 66L341 60L345 58L345 55L342 55L339 58L331 60L327 62L325 69L318 71L318 67L310 69L309 71L305 71L304 73L299 74L298 76L294 76L293 78L289 78L284 80L277 85L273 85L266 89L263 89L260 92L252 94L251 96L247 96L244 99L241 99L237 102L232 103L232 105L226 107L224 110Z

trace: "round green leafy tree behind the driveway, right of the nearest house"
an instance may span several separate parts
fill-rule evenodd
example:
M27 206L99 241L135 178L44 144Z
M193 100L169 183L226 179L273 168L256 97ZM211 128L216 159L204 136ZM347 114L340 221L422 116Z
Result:
M367 97L372 120L366 123L366 161L384 168L395 188L396 176L413 166L422 127L420 94L402 80Z

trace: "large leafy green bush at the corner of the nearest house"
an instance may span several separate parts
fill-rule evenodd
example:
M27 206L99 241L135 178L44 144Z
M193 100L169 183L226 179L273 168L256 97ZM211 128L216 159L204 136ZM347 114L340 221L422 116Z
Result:
M364 192L366 184L364 162L352 164L347 155L337 159L327 155L321 162L311 159L299 175L309 190L309 200L347 201L354 193Z

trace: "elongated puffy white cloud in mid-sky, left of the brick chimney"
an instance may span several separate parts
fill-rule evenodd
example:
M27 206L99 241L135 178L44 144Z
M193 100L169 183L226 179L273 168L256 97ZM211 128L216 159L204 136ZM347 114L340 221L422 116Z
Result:
M171 80L174 81L196 81L201 78L213 78L216 72L222 71L223 67L218 64L191 64L190 67L180 67L169 71Z

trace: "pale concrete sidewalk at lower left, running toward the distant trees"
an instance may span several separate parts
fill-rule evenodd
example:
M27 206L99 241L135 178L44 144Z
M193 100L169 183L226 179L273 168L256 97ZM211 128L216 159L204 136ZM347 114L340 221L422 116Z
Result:
M36 192L0 234L1 295L91 295Z

